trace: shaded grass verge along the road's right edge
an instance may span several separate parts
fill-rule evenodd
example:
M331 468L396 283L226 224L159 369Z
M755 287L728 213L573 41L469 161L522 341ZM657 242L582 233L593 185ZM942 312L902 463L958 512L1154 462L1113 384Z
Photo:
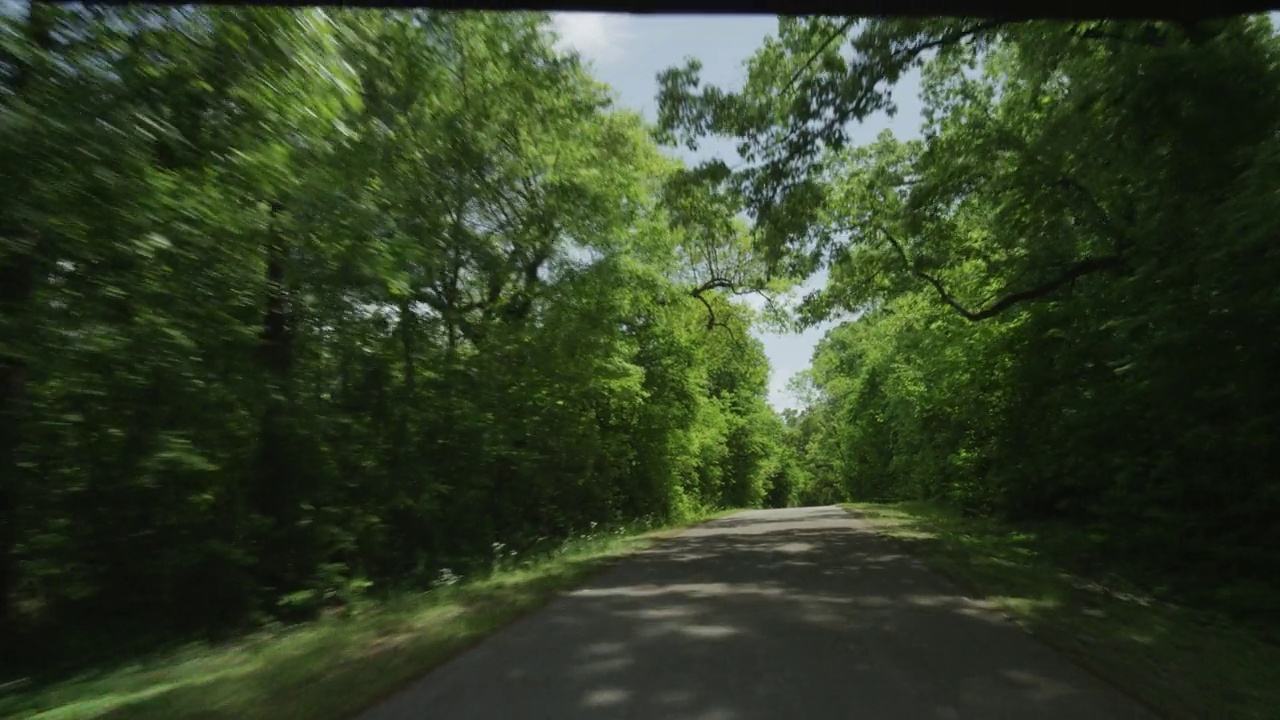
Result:
M1161 602L1064 569L1068 528L1015 530L924 502L847 503L1033 635L1172 720L1280 717L1280 628Z

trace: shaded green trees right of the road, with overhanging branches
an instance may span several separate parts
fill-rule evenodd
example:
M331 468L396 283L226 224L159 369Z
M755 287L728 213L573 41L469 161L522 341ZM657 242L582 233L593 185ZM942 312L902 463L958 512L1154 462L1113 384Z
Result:
M844 319L788 415L809 501L1078 528L1083 564L1275 612L1280 42L1176 23L782 19L737 90L663 77L692 174ZM918 72L923 135L849 142Z

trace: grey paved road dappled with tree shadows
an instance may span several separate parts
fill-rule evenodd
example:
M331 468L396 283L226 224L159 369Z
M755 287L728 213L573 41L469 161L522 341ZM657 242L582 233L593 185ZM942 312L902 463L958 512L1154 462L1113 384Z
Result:
M1155 720L838 507L710 521L360 720Z

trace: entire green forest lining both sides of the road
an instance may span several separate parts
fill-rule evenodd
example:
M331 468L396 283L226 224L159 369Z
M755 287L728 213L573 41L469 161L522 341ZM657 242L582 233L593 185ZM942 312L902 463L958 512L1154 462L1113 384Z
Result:
M649 126L545 14L6 8L5 674L846 500L1274 612L1266 18L783 18ZM753 331L828 320L780 416Z

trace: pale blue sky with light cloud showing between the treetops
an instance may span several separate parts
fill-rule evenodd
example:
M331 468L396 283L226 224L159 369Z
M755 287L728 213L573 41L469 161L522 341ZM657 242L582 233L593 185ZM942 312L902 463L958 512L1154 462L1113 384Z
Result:
M703 79L710 85L739 87L746 78L744 63L764 37L777 29L777 19L767 15L630 15L621 13L556 13L561 41L588 60L598 79L611 85L618 105L639 110L648 120L657 119L659 72L684 64L685 58L703 63ZM870 142L882 129L901 140L918 137L920 127L919 77L909 74L895 88L899 111L893 118L868 118L854 131L854 142ZM732 142L713 140L698 152L675 151L690 164L721 156L732 165L737 160ZM819 287L826 274L815 275L808 287ZM792 375L809 366L814 345L833 323L804 333L773 334L756 332L764 342L772 374L769 402L773 407L799 407L787 391Z

